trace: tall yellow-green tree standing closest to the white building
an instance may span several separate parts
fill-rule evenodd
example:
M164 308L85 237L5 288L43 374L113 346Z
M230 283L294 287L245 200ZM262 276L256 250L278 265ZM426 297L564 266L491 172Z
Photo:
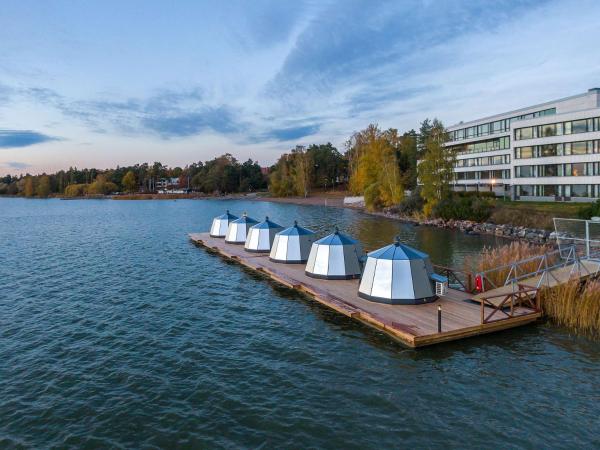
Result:
M433 208L451 194L454 177L454 155L444 147L448 135L439 121L431 128L425 140L423 159L418 166L420 195L425 200L423 212L430 216Z

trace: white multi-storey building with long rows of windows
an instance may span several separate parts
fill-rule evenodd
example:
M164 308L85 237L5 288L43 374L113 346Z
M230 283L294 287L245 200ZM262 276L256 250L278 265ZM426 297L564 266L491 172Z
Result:
M455 190L515 200L600 198L600 88L448 130Z

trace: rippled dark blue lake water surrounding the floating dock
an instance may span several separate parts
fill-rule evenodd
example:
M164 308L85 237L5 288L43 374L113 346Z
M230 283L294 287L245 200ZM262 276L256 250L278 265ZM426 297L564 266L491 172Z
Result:
M324 207L0 199L1 448L600 445L599 343L405 349L192 245L226 208L455 266L496 244Z

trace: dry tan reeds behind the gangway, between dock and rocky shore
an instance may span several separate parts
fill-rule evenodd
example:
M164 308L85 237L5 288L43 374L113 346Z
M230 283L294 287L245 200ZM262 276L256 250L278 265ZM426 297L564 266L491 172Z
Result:
M533 256L543 255L550 248L544 245L534 245L527 242L515 241L501 247L484 247L478 256L468 257L465 259L465 271L471 273L485 272L484 282L486 289L491 289L493 286L502 286L510 273L510 267L503 267L513 264L517 261L531 258ZM521 263L517 266L516 274L513 271L512 276L534 272L538 269L540 260L536 259L529 262ZM493 285L492 285L493 284Z

